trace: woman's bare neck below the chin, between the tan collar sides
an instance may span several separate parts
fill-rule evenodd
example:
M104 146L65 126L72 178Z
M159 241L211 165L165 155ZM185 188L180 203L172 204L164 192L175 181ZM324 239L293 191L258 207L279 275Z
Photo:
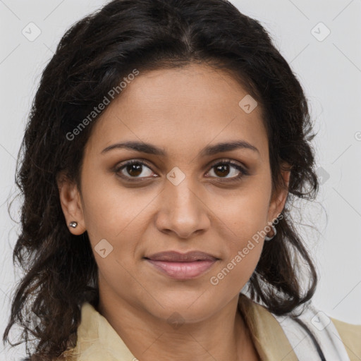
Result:
M102 298L102 293L100 300L99 312L138 360L258 360L238 295L212 317L192 323L183 323L180 316L175 322L159 319L119 298Z

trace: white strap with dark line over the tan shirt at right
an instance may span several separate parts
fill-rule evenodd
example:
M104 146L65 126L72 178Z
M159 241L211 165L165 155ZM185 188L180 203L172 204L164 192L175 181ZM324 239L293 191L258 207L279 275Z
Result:
M310 335L292 317L279 317L274 315L281 324L288 341L300 361L321 360L317 348ZM326 361L350 361L345 345L341 341L338 331L331 319L313 305L298 317L312 332L319 347L324 353Z

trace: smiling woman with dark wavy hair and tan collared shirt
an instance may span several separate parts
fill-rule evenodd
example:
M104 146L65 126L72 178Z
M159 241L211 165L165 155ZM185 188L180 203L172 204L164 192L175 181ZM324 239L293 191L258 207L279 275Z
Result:
M310 305L290 213L318 190L313 137L297 78L227 1L80 20L25 131L4 341L17 322L28 360L359 360L361 326Z

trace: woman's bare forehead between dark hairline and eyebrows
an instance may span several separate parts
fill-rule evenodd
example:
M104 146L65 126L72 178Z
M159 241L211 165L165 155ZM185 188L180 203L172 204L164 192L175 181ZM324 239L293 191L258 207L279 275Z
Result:
M178 152L196 151L211 142L245 140L267 159L260 106L251 112L242 107L242 99L249 97L229 73L210 66L140 71L107 106L90 143L99 150L114 142L137 140Z

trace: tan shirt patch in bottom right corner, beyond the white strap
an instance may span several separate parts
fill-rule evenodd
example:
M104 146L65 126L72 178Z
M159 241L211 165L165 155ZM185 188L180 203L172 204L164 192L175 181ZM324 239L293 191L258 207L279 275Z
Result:
M332 317L330 319L345 345L350 360L361 360L361 324L348 324Z

